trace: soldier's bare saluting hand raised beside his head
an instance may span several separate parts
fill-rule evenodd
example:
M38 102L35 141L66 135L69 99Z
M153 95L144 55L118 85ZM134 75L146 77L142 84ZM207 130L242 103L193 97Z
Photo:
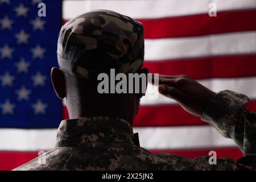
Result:
M216 94L186 75L159 75L158 90L164 96L177 101L188 113L199 117Z

